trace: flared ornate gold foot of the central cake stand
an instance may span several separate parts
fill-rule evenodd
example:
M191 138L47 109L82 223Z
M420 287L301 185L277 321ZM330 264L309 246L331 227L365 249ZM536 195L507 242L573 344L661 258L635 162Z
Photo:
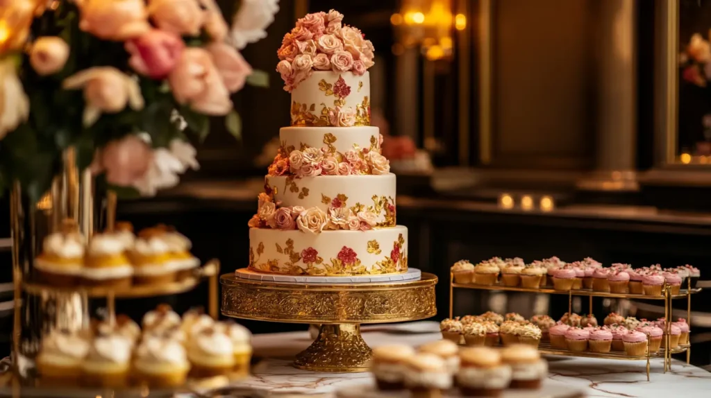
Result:
M294 366L316 372L366 372L371 356L360 325L322 325L316 341L296 355Z

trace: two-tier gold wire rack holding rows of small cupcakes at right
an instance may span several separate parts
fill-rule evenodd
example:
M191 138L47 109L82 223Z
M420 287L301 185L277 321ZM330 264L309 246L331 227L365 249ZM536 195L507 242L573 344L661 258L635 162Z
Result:
M629 294L629 293L611 293L611 292L598 292L592 289L571 289L571 290L556 290L552 287L540 287L538 289L531 289L527 287L511 287L497 282L492 285L484 284L463 284L454 282L454 273L449 274L449 318L454 316L454 289L478 289L478 290L495 290L503 292L526 292L526 293L542 293L542 294L565 294L568 297L568 314L572 313L572 298L573 297L589 297L589 311L588 314L592 314L592 302L593 297L606 297L614 299L630 299L630 300L662 300L664 302L664 319L666 331L664 333L664 347L660 348L657 353L650 353L647 350L646 355L627 355L624 352L611 351L609 353L592 353L590 351L570 351L562 350L560 348L554 348L548 343L540 343L538 350L540 353L545 355L562 355L569 357L581 357L581 358L604 358L604 359L614 359L614 360L646 360L646 372L647 380L649 380L650 366L649 361L651 358L664 358L664 372L671 370L671 355L677 353L686 353L686 363L690 363L691 359L691 343L685 344L683 346L678 346L678 348L670 347L670 329L671 329L671 319L672 319L672 302L676 299L686 299L687 300L687 322L691 326L691 295L701 291L701 288L693 289L691 287L691 280L687 279L687 288L680 289L678 294L672 294L671 286L664 284L661 296L651 296L647 294Z

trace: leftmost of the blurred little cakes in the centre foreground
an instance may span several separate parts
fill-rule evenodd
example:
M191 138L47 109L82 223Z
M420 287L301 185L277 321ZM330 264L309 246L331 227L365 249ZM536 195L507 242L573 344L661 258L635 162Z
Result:
M415 356L415 350L410 346L397 345L373 348L370 372L373 372L378 389L392 391L405 388L407 361L413 356Z

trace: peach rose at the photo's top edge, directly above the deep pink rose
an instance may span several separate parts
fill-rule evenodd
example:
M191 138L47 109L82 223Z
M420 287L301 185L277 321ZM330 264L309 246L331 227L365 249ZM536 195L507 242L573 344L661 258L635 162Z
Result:
M149 0L148 13L159 29L178 35L199 35L205 23L196 0Z

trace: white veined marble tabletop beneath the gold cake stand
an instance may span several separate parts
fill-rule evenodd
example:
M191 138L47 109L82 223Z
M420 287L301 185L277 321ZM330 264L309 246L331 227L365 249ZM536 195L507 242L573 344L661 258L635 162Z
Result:
M432 321L393 326L364 326L363 338L371 346L406 343L417 346L441 338ZM307 331L255 335L255 356L269 358L255 367L254 375L234 385L257 396L335 397L337 389L372 382L369 373L318 373L290 365L294 355L311 343ZM549 384L581 389L587 397L669 398L683 389L685 398L709 397L711 373L674 360L672 371L663 373L663 361L651 361L650 381L645 361L550 357Z

